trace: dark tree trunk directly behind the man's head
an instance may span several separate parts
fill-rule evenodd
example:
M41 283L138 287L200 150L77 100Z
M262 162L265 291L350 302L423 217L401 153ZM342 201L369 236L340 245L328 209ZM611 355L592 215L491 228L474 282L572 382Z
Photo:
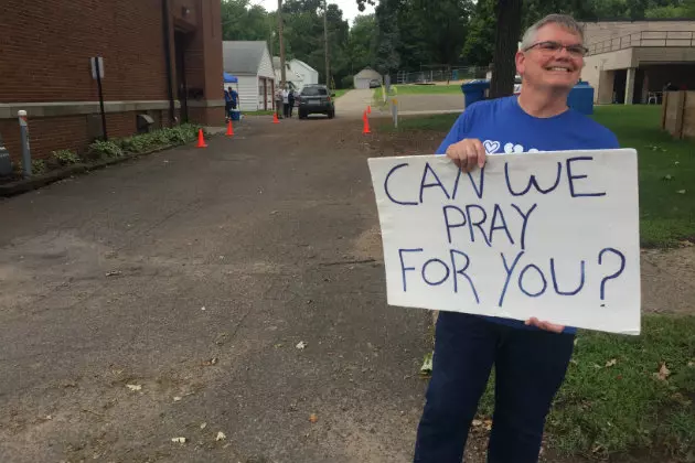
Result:
M500 98L514 94L516 75L517 44L521 35L521 15L523 0L498 0L498 28L492 58L492 82L490 98Z

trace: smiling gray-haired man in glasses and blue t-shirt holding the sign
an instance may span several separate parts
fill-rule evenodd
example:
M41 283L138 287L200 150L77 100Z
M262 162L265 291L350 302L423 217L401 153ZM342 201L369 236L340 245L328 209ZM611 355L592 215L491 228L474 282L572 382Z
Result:
M608 129L567 107L584 67L581 26L550 14L532 25L516 53L518 96L466 108L438 149L461 170L488 155L619 148ZM510 89L511 90L511 89ZM565 379L576 329L458 312L437 321L432 378L418 426L416 463L461 463L471 421L495 367L488 463L536 463L545 419Z

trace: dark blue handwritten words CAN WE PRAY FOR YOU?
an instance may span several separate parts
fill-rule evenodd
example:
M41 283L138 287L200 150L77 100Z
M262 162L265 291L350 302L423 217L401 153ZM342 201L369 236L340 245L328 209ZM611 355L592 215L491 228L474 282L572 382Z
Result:
M563 187L567 189L571 198L606 196L607 193L602 190L591 190L588 175L582 173L585 172L582 166L589 166L588 163L592 161L594 158L590 155L573 157L558 161L554 177L546 179L543 182L534 174L514 172L510 169L510 163L505 162L504 182L506 191L512 198L536 192L543 195L556 194ZM439 204L443 204L441 208L442 225L450 246L453 246L455 240L463 238L469 239L470 243L483 243L484 246L490 248L500 244L510 244L518 247L520 251L514 257L500 252L501 263L506 274L498 300L499 306L502 306L510 282L514 278L520 291L531 298L541 297L548 291L548 281L552 283L555 293L560 295L575 295L581 291L586 280L586 260L578 262L578 277L575 279L576 282L569 286L558 281L556 259L553 257L548 259L548 267L545 271L534 262L525 265L521 262L526 249L526 230L534 211L537 209L537 203L526 207L514 203L509 205L494 204L488 208L474 203L459 204L460 200L459 202L457 200L463 182L470 184L478 200L483 198L485 189L484 168L473 173L458 171L456 180L451 184L445 184L429 162L426 162L423 168L421 175L419 175L419 185L414 185L409 194L405 194L403 187L398 189L399 195L393 194L394 189L391 186L398 182L398 174L405 173L409 168L410 164L404 162L394 165L388 171L383 184L386 197L393 204L403 207L417 207L427 201L436 201ZM479 292L474 283L474 272L472 269L469 271L471 259L466 252L453 247L450 248L449 256L446 257L426 258L424 252L424 248L398 249L404 292L408 290L408 273L413 272L419 273L421 281L429 287L438 287L450 281L455 293L458 293L462 286L468 286L475 303L480 304ZM418 267L413 267L416 265L414 256L418 256L420 259ZM609 259L611 256L613 258ZM612 247L600 249L592 262L601 266L608 260L611 260L611 268L616 268L617 271L603 276L599 294L601 301L605 299L606 283L611 279L618 278L626 266L623 252ZM606 273L605 270L603 273Z

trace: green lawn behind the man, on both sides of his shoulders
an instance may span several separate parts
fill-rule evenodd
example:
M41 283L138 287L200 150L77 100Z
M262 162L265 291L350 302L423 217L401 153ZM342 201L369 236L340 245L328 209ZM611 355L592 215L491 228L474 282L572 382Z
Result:
M643 247L674 247L695 239L695 143L661 130L657 106L599 106L594 119L612 130L624 148L639 153L640 239ZM432 115L375 121L379 131L439 131L458 115ZM666 180L671 179L671 180ZM685 194L677 193L685 190Z

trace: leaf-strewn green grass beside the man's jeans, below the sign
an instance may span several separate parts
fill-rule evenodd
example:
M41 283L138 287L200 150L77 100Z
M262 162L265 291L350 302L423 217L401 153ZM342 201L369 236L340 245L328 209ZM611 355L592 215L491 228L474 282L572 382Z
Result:
M553 451L607 456L652 450L686 461L695 449L695 316L648 315L642 329L640 336L578 335L547 419ZM655 377L662 363L671 372L666 380ZM480 402L484 418L492 417L492 386Z

